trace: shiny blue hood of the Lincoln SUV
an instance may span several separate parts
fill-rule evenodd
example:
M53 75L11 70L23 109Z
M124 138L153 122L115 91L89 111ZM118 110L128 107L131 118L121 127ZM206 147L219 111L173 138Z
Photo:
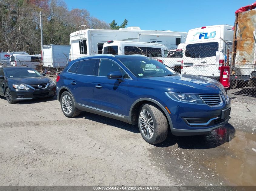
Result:
M158 81L158 84L161 81L162 85L167 86L166 88L173 88L181 93L223 94L224 91L222 84L216 80L189 74L144 79Z

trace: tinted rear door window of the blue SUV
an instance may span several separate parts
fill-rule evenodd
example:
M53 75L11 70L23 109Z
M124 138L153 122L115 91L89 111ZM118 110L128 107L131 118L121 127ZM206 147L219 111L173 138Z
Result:
M82 75L93 75L93 70L94 70L96 61L97 59L80 61L78 64L76 73L82 74Z

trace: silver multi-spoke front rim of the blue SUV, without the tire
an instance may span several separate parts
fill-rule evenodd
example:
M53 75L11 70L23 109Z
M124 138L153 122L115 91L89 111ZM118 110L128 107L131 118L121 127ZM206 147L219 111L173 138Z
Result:
M139 116L139 125L142 135L147 139L151 139L154 135L154 123L150 113L143 109Z

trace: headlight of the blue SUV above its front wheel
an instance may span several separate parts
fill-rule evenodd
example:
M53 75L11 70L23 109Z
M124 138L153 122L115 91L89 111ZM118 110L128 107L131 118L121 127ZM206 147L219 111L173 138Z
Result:
M174 101L194 103L194 104L205 104L204 101L198 94L183 94L183 93L173 93L165 92L168 97Z

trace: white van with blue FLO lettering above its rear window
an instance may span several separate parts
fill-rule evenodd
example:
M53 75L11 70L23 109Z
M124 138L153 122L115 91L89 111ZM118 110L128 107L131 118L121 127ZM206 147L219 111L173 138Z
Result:
M220 77L220 66L226 62L227 44L232 50L234 30L230 25L200 27L188 31L181 73Z

